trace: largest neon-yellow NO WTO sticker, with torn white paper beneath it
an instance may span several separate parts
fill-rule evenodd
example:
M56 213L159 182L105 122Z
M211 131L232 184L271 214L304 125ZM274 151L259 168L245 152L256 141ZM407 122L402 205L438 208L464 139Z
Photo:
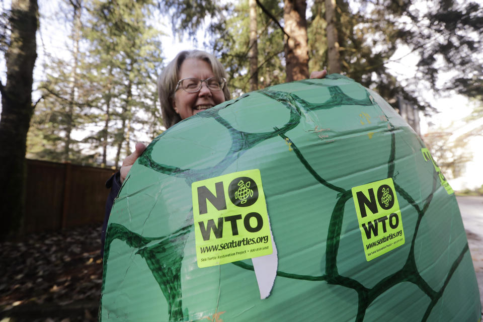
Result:
M260 170L197 181L191 192L198 267L272 254Z

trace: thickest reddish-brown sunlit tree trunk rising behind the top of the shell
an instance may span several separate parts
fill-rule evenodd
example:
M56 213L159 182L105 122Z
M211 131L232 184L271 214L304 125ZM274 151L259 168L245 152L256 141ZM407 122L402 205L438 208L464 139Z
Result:
M308 40L305 0L284 0L285 69L287 82L308 78Z

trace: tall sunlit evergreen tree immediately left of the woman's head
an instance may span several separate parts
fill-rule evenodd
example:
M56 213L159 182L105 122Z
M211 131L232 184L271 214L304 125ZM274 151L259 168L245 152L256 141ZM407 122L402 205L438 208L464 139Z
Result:
M147 22L153 9L150 1L128 0L93 2L90 8L85 33L93 74L103 89L96 108L104 120L87 141L102 146L103 158L107 147L114 146L115 165L130 153L132 142L160 132L155 86L162 62L160 32ZM153 114L156 117L149 119Z

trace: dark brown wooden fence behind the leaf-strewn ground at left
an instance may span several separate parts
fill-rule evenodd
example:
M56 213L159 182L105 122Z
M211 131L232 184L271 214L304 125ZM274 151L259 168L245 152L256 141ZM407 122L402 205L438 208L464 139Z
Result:
M102 223L105 183L114 172L27 159L25 232Z

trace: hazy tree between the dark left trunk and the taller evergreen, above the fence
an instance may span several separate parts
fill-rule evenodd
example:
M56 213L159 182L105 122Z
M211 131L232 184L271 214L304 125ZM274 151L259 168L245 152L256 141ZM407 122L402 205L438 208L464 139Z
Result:
M86 113L83 76L79 65L84 59L81 43L82 1L69 1L59 7L67 17L69 28L69 59L59 59L52 53L44 53L48 64L44 64L45 79L39 90L44 98L37 106L28 133L27 156L60 162L81 163L82 149L73 138L73 133L83 128ZM45 19L45 18L44 18ZM44 20L45 21L45 20Z

